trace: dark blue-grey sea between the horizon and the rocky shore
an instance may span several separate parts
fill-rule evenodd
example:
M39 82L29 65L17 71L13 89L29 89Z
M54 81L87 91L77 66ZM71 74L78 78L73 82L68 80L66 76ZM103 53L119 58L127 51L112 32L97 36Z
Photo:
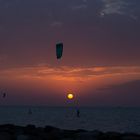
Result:
M0 106L0 124L62 129L140 133L140 108L135 107Z

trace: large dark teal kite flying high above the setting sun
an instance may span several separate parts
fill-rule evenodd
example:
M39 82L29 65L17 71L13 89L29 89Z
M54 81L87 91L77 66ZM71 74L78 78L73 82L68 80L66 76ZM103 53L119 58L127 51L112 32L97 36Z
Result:
M56 56L57 59L60 59L63 55L63 43L56 44Z

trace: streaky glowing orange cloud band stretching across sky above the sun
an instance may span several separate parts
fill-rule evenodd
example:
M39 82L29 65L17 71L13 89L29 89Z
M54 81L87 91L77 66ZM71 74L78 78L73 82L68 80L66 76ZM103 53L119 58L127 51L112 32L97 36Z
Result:
M50 67L36 66L12 68L0 71L1 77L51 79L62 81L91 81L105 76L130 76L140 79L140 67Z

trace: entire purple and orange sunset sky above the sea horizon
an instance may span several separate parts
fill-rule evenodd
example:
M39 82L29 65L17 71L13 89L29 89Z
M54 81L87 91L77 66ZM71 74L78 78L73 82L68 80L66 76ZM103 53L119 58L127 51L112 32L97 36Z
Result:
M0 105L140 106L140 0L0 0L0 90Z

